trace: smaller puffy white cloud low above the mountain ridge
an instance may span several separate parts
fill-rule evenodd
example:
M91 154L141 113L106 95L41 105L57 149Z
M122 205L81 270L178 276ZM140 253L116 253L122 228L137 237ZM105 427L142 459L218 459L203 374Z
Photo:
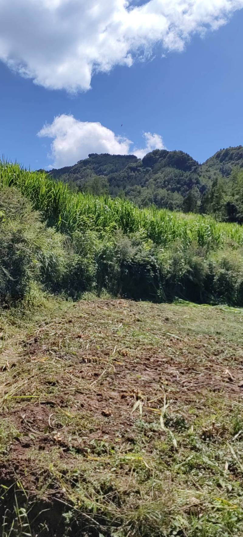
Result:
M38 136L47 136L51 142L48 168L70 166L86 158L89 153L110 153L111 155L135 154L143 158L153 149L163 149L164 143L158 134L144 133L146 147L131 150L133 145L127 138L116 136L114 132L98 122L78 121L73 115L58 115L53 123L44 125Z

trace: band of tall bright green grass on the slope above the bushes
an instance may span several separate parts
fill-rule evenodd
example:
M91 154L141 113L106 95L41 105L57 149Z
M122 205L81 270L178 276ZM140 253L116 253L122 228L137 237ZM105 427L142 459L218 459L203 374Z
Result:
M125 234L143 231L163 248L176 240L184 246L193 242L207 248L220 248L225 242L243 244L243 228L216 222L209 216L183 215L154 207L139 209L130 201L72 193L67 185L55 182L45 172L30 172L17 163L0 162L0 188L15 186L32 201L49 226L62 233L89 229Z

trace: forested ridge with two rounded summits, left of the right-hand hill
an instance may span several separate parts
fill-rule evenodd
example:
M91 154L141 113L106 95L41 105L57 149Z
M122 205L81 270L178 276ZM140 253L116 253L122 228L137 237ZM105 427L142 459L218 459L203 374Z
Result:
M200 165L183 151L154 150L142 160L134 155L91 154L74 166L51 170L74 189L129 198L138 206L181 209L194 186L201 192Z

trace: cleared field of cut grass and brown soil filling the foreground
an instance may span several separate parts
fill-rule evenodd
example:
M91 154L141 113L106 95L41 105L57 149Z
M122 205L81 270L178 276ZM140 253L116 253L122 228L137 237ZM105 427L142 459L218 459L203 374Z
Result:
M48 299L1 325L3 537L242 537L242 310Z

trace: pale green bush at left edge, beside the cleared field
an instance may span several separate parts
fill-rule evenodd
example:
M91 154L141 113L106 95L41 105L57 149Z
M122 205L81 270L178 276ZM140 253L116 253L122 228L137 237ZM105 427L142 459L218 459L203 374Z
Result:
M67 265L64 236L47 228L16 189L1 192L0 300L11 304L30 295L33 282L53 290Z

